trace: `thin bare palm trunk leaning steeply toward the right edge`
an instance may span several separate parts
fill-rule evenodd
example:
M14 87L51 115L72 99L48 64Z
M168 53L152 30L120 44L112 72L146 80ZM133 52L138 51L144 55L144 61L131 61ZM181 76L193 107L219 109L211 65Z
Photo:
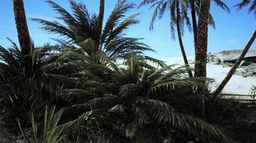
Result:
M256 37L256 30L255 30L254 34L252 35L250 41L244 47L244 50L242 51L242 54L237 59L236 63L234 63L234 66L232 66L232 68L230 69L227 76L224 78L224 80L221 82L221 84L219 84L219 87L213 92L214 98L218 97L219 93L222 91L222 89L224 89L227 82L229 82L229 79L232 78L234 72L237 70L238 66L241 64L242 59L244 59L245 54L247 54L247 51L250 49L250 46L252 46L253 41L255 41L255 37Z

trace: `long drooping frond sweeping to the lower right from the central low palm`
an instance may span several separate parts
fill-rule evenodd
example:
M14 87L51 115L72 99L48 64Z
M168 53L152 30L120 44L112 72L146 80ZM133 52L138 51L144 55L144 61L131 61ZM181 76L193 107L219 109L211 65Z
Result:
M180 114L175 112L175 109L165 102L161 102L155 99L148 99L145 101L149 107L158 111L155 114L155 118L159 123L171 124L173 127L177 127L180 130L186 132L198 132L199 134L208 134L211 137L218 137L222 142L232 142L232 139L226 137L218 128L213 125L204 122L201 119L191 117L186 114Z

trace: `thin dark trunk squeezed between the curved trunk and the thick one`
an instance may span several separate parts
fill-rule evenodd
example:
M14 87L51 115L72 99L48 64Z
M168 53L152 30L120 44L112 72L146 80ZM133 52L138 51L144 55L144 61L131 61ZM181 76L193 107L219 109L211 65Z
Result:
M191 17L192 17L192 26L193 26L193 42L194 42L194 49L196 49L197 44L197 24L196 24L196 8L195 8L195 1L190 0L191 4Z

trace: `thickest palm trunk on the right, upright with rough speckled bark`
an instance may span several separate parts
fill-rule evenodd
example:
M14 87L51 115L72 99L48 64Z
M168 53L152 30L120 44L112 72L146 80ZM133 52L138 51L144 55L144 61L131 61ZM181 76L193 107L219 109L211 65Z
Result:
M202 0L198 16L195 77L206 77L209 9L210 0Z

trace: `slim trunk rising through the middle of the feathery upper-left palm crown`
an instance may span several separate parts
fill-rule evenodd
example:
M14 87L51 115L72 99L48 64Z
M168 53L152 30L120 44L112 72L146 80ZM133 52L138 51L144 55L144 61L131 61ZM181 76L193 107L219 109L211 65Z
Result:
M104 0L100 0L99 2L99 16L97 19L97 34L99 39L97 39L97 47L96 49L93 51L93 54L95 56L95 61L100 63L100 59L99 59L99 49L100 49L100 43L101 43L101 31L102 31L102 26L103 26L103 20L104 20L104 7L105 7L105 1Z

